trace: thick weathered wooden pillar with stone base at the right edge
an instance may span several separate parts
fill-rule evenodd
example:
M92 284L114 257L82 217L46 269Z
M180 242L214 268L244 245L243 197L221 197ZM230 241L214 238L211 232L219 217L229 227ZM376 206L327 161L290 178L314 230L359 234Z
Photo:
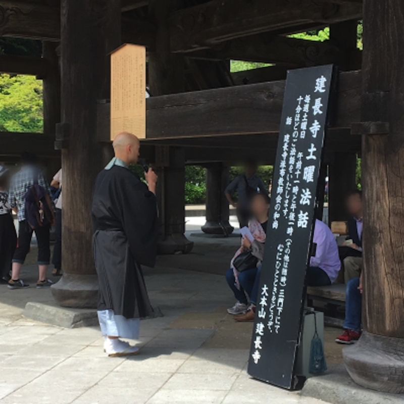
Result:
M363 134L365 332L344 349L344 361L357 383L403 393L404 2L364 0L363 5L362 121L367 123L358 131Z

